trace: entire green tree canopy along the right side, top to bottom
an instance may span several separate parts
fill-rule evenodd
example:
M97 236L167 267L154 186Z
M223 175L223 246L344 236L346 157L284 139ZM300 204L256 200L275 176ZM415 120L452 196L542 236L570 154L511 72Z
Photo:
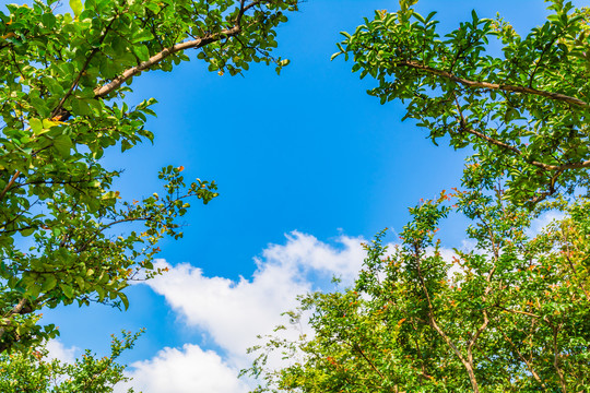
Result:
M256 392L588 391L590 10L552 1L524 38L472 12L441 38L415 2L343 33L335 56L435 142L473 150L463 189L410 209L400 242L377 235L351 287L302 297L288 315L310 334L268 337L243 372ZM471 246L446 250L457 214Z

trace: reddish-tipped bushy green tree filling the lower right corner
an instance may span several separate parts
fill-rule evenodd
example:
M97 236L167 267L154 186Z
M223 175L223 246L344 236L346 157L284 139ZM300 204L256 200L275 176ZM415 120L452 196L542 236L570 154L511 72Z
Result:
M590 389L590 200L529 237L531 215L480 191L411 209L402 243L379 234L354 286L315 293L315 336L273 340L248 371L257 392L586 392ZM546 207L546 206L545 206ZM471 250L442 258L435 233L457 210ZM303 360L281 370L267 352Z

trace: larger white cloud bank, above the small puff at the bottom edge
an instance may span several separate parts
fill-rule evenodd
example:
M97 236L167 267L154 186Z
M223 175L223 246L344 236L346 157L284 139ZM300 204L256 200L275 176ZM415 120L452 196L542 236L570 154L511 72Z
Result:
M148 285L188 325L206 331L233 358L244 357L257 344L258 334L271 333L284 323L281 313L297 306L297 295L316 289L309 274L341 275L350 282L365 255L359 238L341 236L338 247L298 231L286 238L286 245L270 245L255 259L258 269L251 279L206 277L190 264L173 267L161 261L160 267L167 266L169 272Z

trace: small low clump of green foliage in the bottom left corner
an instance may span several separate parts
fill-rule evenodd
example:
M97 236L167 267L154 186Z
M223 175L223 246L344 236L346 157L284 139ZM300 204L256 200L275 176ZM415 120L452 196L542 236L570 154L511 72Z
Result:
M74 364L48 358L45 345L14 354L0 355L0 390L5 393L110 393L123 376L125 366L116 362L126 349L133 347L142 332L113 335L110 356L96 358L88 349ZM130 389L128 393L132 393Z

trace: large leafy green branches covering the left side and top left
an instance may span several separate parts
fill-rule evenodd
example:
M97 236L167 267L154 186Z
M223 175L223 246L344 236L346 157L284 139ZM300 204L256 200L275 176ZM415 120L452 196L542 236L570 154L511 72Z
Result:
M119 201L119 171L104 150L153 140L145 129L154 99L131 105L133 78L170 71L189 49L220 74L275 63L276 26L298 0L55 0L0 12L0 353L57 334L33 313L43 307L127 307L122 289L157 274L157 241L180 237L176 218L214 182L186 186L166 167L164 196ZM144 223L143 231L120 230ZM125 226L129 228L129 226ZM120 235L120 236L118 236Z

